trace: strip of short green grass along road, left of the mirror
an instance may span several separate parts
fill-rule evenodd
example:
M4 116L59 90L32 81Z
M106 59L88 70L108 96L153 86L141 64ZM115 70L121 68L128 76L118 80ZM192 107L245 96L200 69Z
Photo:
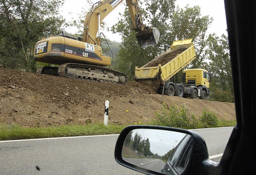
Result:
M104 124L63 125L25 128L18 124L0 124L0 140L53 138L70 136L93 136L119 134L126 126Z

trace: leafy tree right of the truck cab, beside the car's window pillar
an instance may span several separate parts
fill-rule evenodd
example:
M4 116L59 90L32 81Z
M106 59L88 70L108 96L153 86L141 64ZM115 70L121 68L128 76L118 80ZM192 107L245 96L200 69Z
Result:
M210 34L207 45L210 60L208 70L212 73L212 98L223 102L234 102L228 37L224 34L221 37Z

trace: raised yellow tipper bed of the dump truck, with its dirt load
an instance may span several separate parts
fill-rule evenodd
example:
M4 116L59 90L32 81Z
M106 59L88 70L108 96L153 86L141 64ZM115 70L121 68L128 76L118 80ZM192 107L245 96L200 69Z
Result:
M162 82L174 76L196 58L192 39L174 41L170 49L146 65L135 67L135 79L158 79Z

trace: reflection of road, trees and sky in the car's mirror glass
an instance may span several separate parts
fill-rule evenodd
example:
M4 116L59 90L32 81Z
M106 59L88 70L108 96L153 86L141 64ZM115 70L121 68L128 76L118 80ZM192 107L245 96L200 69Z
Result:
M147 170L167 175L182 174L193 148L189 134L157 129L131 130L122 147L122 159Z

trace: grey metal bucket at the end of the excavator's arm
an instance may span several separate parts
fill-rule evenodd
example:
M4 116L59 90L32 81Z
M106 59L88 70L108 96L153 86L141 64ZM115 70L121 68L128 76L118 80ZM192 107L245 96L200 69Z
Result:
M149 47L157 45L160 33L157 28L147 28L136 32L135 35L140 47Z

